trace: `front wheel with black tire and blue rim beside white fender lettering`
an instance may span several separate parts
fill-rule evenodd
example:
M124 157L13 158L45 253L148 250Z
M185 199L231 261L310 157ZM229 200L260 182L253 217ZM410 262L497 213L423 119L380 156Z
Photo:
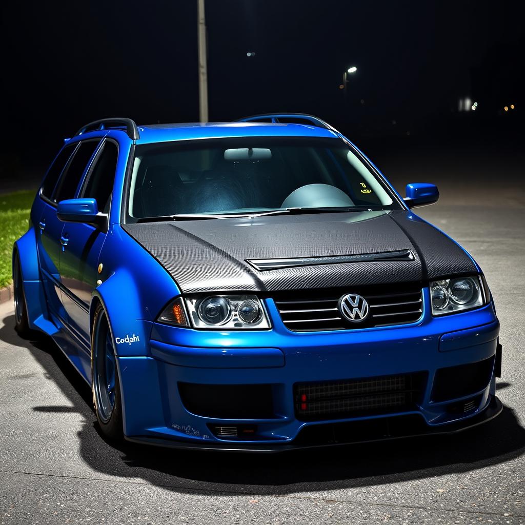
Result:
M122 400L113 336L106 311L95 310L91 332L91 385L97 421L109 440L123 439Z

